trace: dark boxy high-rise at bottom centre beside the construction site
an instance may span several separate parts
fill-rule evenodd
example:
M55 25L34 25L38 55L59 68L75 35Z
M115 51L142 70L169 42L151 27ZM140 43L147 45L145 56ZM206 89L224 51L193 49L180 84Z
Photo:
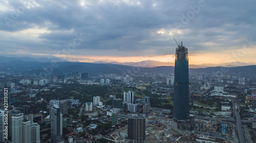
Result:
M128 142L145 142L145 116L131 114L128 116L127 137Z

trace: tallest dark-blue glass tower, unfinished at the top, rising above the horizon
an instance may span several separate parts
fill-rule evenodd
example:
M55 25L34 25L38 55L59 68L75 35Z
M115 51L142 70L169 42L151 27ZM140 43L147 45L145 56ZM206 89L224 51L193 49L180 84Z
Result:
M174 122L187 124L189 120L189 87L188 87L188 52L187 48L178 45L175 55L174 71Z

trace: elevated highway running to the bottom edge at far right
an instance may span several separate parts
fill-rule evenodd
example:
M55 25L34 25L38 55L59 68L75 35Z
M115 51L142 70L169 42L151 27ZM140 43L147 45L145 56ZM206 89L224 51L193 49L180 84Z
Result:
M232 101L232 103L233 103L233 115L236 115L236 119L237 119L237 129L238 129L239 142L240 143L245 143L243 129L242 129L242 125L241 125L241 118L240 118L238 110L235 108L235 105L238 106L238 104L237 104L237 102L234 102L234 101Z

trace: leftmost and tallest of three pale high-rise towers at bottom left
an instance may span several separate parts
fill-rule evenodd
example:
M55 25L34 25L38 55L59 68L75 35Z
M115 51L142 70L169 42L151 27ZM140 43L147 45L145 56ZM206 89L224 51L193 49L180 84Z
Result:
M12 115L12 143L22 143L23 113Z

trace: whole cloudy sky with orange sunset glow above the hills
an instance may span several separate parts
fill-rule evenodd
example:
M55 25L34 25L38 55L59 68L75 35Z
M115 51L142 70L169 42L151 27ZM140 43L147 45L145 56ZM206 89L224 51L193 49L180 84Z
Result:
M2 0L0 55L80 62L256 61L256 1Z

